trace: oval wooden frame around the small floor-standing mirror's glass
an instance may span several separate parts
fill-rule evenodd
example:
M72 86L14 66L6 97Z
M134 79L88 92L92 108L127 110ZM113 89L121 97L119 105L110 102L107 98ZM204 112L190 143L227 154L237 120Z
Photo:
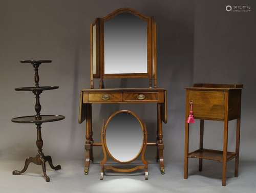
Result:
M116 159L116 158L111 154L111 152L109 151L108 146L106 145L106 130L107 130L108 124L110 123L110 121L111 121L117 114L120 114L120 113L129 113L129 114L133 115L134 118L137 119L137 121L139 122L140 127L141 127L140 129L141 129L141 132L142 132L142 143L141 143L140 151L138 152L138 154L137 154L134 158L132 158L132 159L130 159L130 160L128 160L128 161L120 161L120 160ZM145 152L146 141L147 141L147 132L146 132L146 128L145 128L144 123L143 123L143 122L140 120L140 118L139 118L135 113L133 113L132 111L129 111L129 110L120 110L120 111L117 111L117 112L113 113L113 114L108 118L108 120L106 120L106 122L105 122L105 124L104 124L104 126L103 126L103 130L102 130L102 135L101 135L101 137L102 137L102 143L103 143L102 145L104 146L103 151L104 151L104 149L105 149L105 151L108 153L108 155L109 155L114 161L116 161L116 162L118 162L118 163L131 163L131 162L133 162L134 160L136 160L140 155L142 156L142 157L141 157L142 161L144 160L144 152Z

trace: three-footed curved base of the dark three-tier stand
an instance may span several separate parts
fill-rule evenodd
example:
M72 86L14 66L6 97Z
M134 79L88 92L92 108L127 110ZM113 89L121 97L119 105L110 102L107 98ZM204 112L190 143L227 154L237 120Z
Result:
M34 163L36 165L42 166L42 172L44 174L44 178L47 182L50 182L50 178L46 174L46 162L48 161L50 167L54 170L61 169L60 165L54 166L52 163L52 157L51 156L45 156L43 153L38 153L36 157L29 157L25 161L25 166L21 171L14 170L12 171L13 175L20 175L25 173L25 171L28 169L28 166L30 163Z

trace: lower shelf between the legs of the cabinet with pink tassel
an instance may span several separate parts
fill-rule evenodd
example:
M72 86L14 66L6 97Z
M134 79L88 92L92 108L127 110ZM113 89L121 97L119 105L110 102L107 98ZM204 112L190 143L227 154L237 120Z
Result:
M236 153L227 152L227 161L235 158ZM187 156L188 158L202 158L206 160L215 160L222 162L223 161L223 151L214 150L214 149L197 149L194 152L191 152Z

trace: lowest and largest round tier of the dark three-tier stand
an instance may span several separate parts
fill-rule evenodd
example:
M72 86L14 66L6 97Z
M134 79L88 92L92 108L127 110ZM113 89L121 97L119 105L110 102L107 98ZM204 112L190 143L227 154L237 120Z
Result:
M65 116L63 115L41 115L41 120L36 120L35 117L35 115L16 117L11 119L11 121L15 123L46 123L65 119Z

